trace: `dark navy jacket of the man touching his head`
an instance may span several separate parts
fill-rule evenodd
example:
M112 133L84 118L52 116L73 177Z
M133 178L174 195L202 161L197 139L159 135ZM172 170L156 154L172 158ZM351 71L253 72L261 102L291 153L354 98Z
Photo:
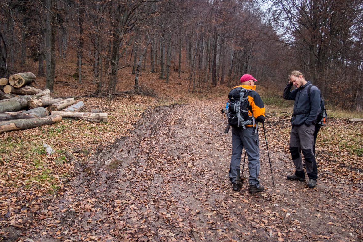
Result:
M309 85L312 85L310 81L291 92L292 83L287 83L285 87L284 99L295 100L294 113L291 118L291 125L293 126L300 126L302 124L310 126L311 124L316 124L318 114L320 113L320 90L312 86L309 98L307 95Z

